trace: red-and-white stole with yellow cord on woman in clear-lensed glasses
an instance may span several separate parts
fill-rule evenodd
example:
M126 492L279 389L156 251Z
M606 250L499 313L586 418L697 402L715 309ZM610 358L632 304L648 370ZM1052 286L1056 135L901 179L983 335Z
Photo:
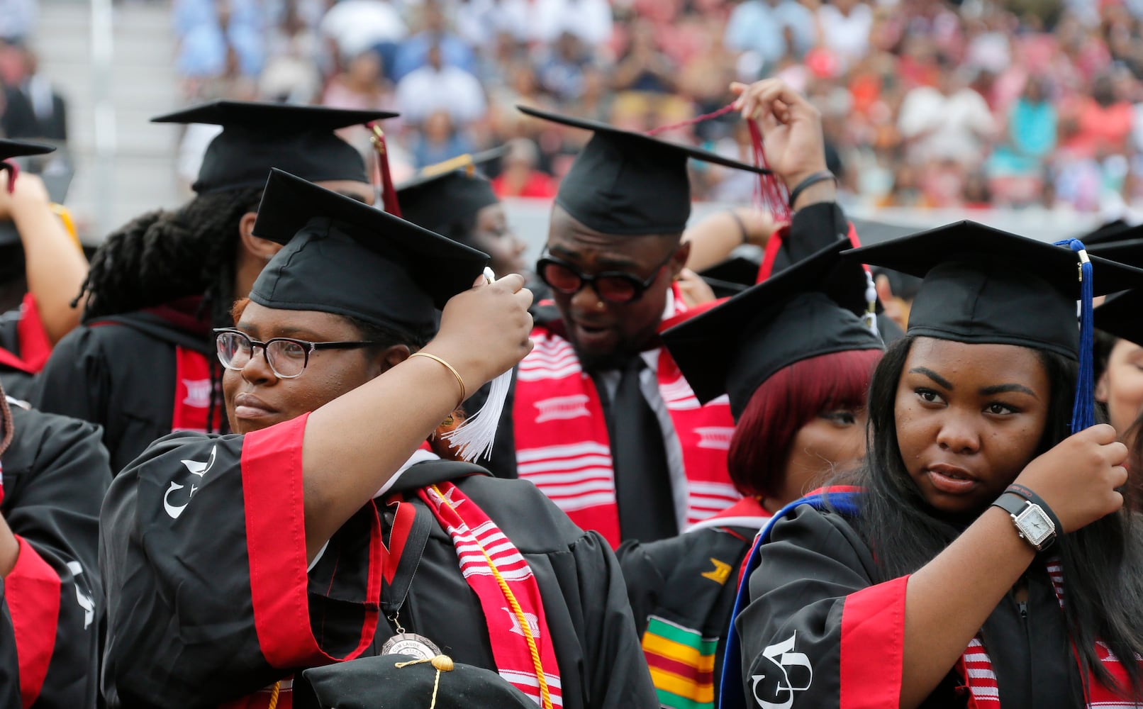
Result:
M499 676L539 707L561 707L555 650L528 561L451 483L422 487L417 494L453 539L461 573L483 608Z

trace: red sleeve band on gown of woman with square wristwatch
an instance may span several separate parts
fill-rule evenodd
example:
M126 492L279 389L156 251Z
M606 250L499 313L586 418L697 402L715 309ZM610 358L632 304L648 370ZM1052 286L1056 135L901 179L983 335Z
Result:
M840 709L896 707L905 647L909 576L846 597L841 608Z

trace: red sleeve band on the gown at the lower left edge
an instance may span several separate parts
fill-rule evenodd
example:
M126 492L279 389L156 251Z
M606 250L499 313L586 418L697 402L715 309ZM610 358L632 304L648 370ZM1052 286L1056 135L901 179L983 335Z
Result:
M56 648L59 622L59 574L23 537L16 566L3 581L19 662L19 694L24 707L40 696Z

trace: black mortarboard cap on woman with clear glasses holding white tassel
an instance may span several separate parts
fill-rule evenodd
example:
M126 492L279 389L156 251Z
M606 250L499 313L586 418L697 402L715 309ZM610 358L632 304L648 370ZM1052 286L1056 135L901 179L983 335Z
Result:
M472 287L488 255L274 169L254 233L285 244L254 281L266 308L317 310L414 334Z

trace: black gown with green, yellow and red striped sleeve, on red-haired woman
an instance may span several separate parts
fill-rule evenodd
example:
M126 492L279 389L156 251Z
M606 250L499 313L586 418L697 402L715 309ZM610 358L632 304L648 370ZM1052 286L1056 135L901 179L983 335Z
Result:
M758 527L706 527L616 551L666 709L713 707L738 575Z

